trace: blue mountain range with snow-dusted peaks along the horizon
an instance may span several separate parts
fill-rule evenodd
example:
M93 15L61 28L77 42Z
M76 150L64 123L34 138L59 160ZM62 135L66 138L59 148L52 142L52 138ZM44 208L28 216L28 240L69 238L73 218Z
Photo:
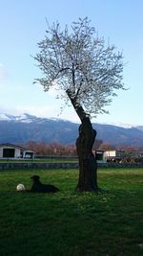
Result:
M41 118L30 114L13 116L0 114L0 143L56 142L74 144L79 124L55 118ZM97 139L113 146L143 147L143 126L92 124Z

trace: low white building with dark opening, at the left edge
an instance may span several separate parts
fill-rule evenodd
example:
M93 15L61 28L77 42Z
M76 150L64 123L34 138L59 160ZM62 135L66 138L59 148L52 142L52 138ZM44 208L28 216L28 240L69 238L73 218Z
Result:
M34 158L34 152L10 143L0 144L0 158Z

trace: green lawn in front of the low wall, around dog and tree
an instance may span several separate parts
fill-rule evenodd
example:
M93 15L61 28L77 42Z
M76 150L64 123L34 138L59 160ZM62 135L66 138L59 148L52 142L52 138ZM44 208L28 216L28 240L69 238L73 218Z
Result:
M16 192L31 175L54 195ZM1 256L142 256L143 171L100 169L106 194L74 192L77 170L0 172Z

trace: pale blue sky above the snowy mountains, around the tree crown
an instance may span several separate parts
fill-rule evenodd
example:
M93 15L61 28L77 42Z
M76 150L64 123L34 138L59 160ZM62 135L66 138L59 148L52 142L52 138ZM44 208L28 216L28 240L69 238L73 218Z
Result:
M33 84L40 71L32 56L50 24L71 26L86 16L98 35L123 52L126 91L92 122L143 126L143 1L142 0L0 0L0 113L61 118L79 122L72 106L57 100L54 91Z

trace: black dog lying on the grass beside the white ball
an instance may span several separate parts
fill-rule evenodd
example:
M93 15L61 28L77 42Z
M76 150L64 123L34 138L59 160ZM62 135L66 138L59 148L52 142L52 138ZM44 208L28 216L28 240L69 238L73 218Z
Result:
M38 175L31 176L33 180L33 184L31 185L30 192L37 192L37 193L55 193L58 192L59 189L50 184L42 184L40 182L40 177Z

